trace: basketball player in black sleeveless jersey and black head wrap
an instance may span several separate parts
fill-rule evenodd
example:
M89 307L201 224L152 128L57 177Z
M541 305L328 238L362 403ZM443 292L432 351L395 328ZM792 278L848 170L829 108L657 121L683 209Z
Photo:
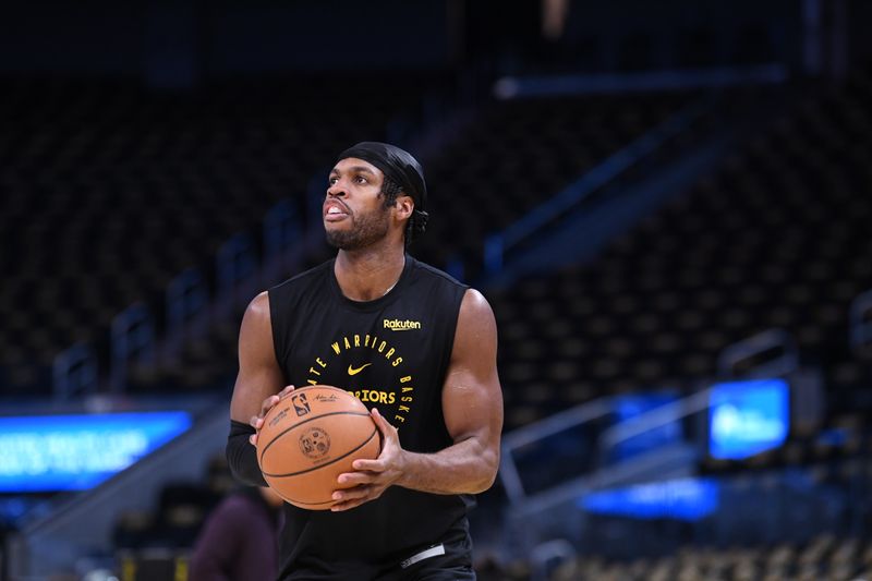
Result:
M256 432L292 386L334 385L371 410L375 460L341 474L331 510L286 504L282 580L470 580L467 511L499 464L497 330L485 299L405 249L427 214L419 162L365 142L330 171L336 257L256 296L243 317L228 459L265 485ZM288 386L288 387L284 387Z

